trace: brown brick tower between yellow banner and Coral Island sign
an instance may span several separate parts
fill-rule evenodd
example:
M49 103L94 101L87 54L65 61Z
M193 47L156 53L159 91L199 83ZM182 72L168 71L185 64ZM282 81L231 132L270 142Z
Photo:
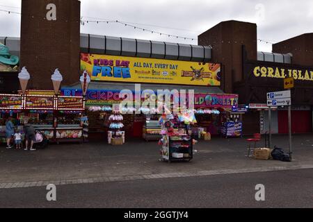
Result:
M198 44L213 46L212 61L223 65L224 92L233 93L233 83L243 79L242 45L248 58L257 59L257 25L248 22L220 22L198 37Z

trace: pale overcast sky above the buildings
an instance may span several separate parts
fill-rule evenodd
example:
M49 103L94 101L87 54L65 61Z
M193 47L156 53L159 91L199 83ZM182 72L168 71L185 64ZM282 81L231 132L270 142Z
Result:
M21 0L0 0L0 10L20 12L20 7ZM119 20L195 40L160 36L115 23L85 24L81 33L186 44L198 44L200 33L230 19L257 23L258 38L274 43L313 29L313 1L309 0L81 0L81 15L84 20ZM20 15L0 11L0 36L19 36L19 26ZM259 42L258 50L271 51L271 44Z

